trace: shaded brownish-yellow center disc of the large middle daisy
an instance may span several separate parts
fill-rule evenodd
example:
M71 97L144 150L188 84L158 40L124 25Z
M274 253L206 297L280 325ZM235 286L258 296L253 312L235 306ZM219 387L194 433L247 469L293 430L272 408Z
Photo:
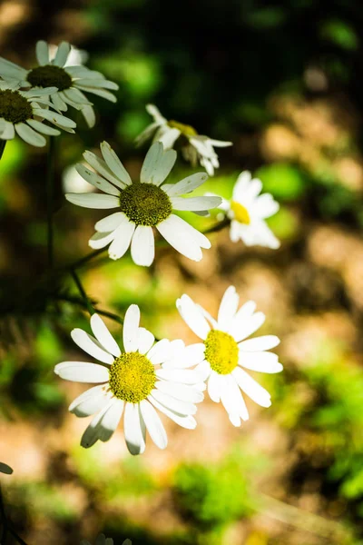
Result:
M132 183L120 195L120 209L136 225L154 227L172 213L168 195L153 183Z

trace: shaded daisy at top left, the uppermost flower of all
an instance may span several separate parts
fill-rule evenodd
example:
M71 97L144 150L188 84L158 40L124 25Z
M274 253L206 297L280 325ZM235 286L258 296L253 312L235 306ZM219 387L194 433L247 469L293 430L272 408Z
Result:
M58 46L53 59L49 55L50 49L50 45L43 40L37 42L35 54L39 65L31 70L25 70L0 57L0 76L22 87L56 87L56 93L50 96L55 109L66 112L68 106L72 106L81 110L88 126L93 127L95 115L92 103L83 91L116 102L116 97L110 91L117 91L119 86L106 80L100 72L90 70L82 64L70 66L68 58L72 55L72 49L67 42Z

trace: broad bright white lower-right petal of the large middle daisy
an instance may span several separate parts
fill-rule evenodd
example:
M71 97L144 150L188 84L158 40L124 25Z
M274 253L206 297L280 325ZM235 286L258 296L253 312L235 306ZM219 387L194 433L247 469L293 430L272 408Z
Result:
M201 248L211 248L211 243L204 234L174 214L156 225L156 228L175 250L192 261L201 261Z

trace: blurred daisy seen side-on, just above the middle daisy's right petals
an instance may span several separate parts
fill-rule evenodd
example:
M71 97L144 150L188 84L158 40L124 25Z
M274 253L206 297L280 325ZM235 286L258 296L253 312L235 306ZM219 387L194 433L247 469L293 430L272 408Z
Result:
M182 136L184 141L182 144L184 159L189 161L193 166L199 161L210 176L214 175L214 169L220 166L214 147L226 147L232 145L231 142L214 140L209 136L198 134L191 125L173 120L168 121L153 104L147 104L146 110L152 115L153 122L136 138L137 145L141 145L152 138L152 142L162 142L165 149L170 149L178 138Z

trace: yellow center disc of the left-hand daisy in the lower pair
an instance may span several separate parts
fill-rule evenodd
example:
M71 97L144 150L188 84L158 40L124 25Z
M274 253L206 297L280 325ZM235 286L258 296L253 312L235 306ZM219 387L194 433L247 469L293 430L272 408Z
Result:
M139 352L127 352L110 367L109 387L119 400L138 403L145 400L155 386L152 362Z

